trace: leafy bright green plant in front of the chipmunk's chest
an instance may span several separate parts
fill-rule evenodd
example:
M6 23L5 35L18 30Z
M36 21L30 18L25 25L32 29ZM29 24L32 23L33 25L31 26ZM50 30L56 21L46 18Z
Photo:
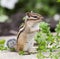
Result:
M38 48L37 48L38 59L44 59L44 58L58 59L59 57L58 55L60 52L56 54L53 54L53 52L59 49L58 41L60 43L60 36L58 35L60 34L60 22L59 24L57 24L56 27L57 34L55 36L50 32L50 27L48 23L41 22L39 24L39 28L40 28L40 32L38 32L35 36L35 41L38 44ZM45 56L44 52L45 53L48 52L49 55Z

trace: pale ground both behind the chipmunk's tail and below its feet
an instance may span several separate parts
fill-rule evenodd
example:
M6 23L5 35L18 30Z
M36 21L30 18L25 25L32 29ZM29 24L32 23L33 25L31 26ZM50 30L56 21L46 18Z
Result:
M1 36L0 39L7 40L15 38L16 36ZM5 45L6 46L6 45ZM36 54L31 55L19 55L17 52L10 52L10 51L0 51L0 59L37 59Z

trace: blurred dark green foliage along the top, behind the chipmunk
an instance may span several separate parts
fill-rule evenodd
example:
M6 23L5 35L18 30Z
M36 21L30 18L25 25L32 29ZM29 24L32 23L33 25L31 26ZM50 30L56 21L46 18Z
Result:
M27 12L34 11L45 16L53 16L60 13L60 2L57 0L18 0L13 9L3 8L0 6L0 14L11 15L17 11Z

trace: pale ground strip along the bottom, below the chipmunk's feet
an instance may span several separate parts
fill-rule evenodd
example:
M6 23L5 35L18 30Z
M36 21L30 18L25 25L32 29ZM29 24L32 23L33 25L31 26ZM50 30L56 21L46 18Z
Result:
M16 52L0 51L0 59L37 59L36 55L19 55Z

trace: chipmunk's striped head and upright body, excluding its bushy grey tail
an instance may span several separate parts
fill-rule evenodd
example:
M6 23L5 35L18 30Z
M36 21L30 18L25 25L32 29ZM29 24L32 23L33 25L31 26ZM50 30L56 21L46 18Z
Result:
M39 31L39 23L43 20L40 14L34 12L27 12L24 26L17 34L16 51L31 52L34 45L34 36ZM8 44L7 44L8 45Z

